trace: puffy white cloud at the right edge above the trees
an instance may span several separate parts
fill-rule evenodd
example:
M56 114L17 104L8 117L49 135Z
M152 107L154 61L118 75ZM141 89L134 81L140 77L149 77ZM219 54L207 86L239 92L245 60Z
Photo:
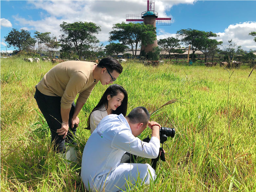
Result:
M223 41L223 46L228 44L228 40L232 39L232 43L237 46L242 46L243 50L256 49L256 43L253 41L253 36L248 35L249 32L256 31L256 22L244 22L229 25L224 32L218 32L220 35L216 39Z

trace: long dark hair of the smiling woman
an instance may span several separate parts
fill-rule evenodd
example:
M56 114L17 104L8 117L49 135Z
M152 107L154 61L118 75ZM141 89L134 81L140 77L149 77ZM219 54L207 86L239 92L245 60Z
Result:
M100 98L99 103L96 105L96 107L92 110L92 112L96 111L96 110L100 110L100 108L102 108L102 106L107 105L108 107L108 99L107 96L110 95L111 97L113 96L117 96L118 93L123 93L124 94L124 98L122 101L122 104L117 107L117 109L114 111L112 111L113 114L123 114L123 116L126 116L126 112L127 112L127 102L128 102L128 95L126 90L121 86L121 85L117 85L117 84L113 84L110 85L106 91L104 92L103 96ZM92 112L90 113L88 120L87 120L87 125L88 127L86 129L91 129L90 126L90 117L92 115Z

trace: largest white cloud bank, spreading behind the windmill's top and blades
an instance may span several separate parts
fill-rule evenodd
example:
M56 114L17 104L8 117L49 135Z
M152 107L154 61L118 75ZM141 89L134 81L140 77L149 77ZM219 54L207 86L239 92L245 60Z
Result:
M169 11L173 5L193 4L193 2L194 0L157 1L155 10L159 12L159 17L170 17L171 15L166 11ZM40 12L41 20L37 21L15 15L14 19L23 26L22 29L51 32L58 37L61 34L59 25L63 21L94 22L101 26L101 32L96 36L104 42L108 40L113 24L125 21L126 14L140 14L146 11L147 1L28 1L28 5L30 9L42 9L46 13Z

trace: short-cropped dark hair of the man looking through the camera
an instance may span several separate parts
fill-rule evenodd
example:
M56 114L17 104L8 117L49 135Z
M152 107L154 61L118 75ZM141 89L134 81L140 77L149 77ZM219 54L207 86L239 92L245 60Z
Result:
M150 119L150 114L145 107L136 107L127 115L127 117L133 124L143 123L144 125L147 125Z

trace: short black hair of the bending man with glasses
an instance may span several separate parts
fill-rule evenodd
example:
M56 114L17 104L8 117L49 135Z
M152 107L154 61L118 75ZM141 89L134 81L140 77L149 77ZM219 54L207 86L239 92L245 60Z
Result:
M110 71L110 73L116 70L117 73L121 74L123 71L123 67L121 66L121 64L117 61L117 59L114 59L112 57L105 57L101 59L97 67L106 67Z

